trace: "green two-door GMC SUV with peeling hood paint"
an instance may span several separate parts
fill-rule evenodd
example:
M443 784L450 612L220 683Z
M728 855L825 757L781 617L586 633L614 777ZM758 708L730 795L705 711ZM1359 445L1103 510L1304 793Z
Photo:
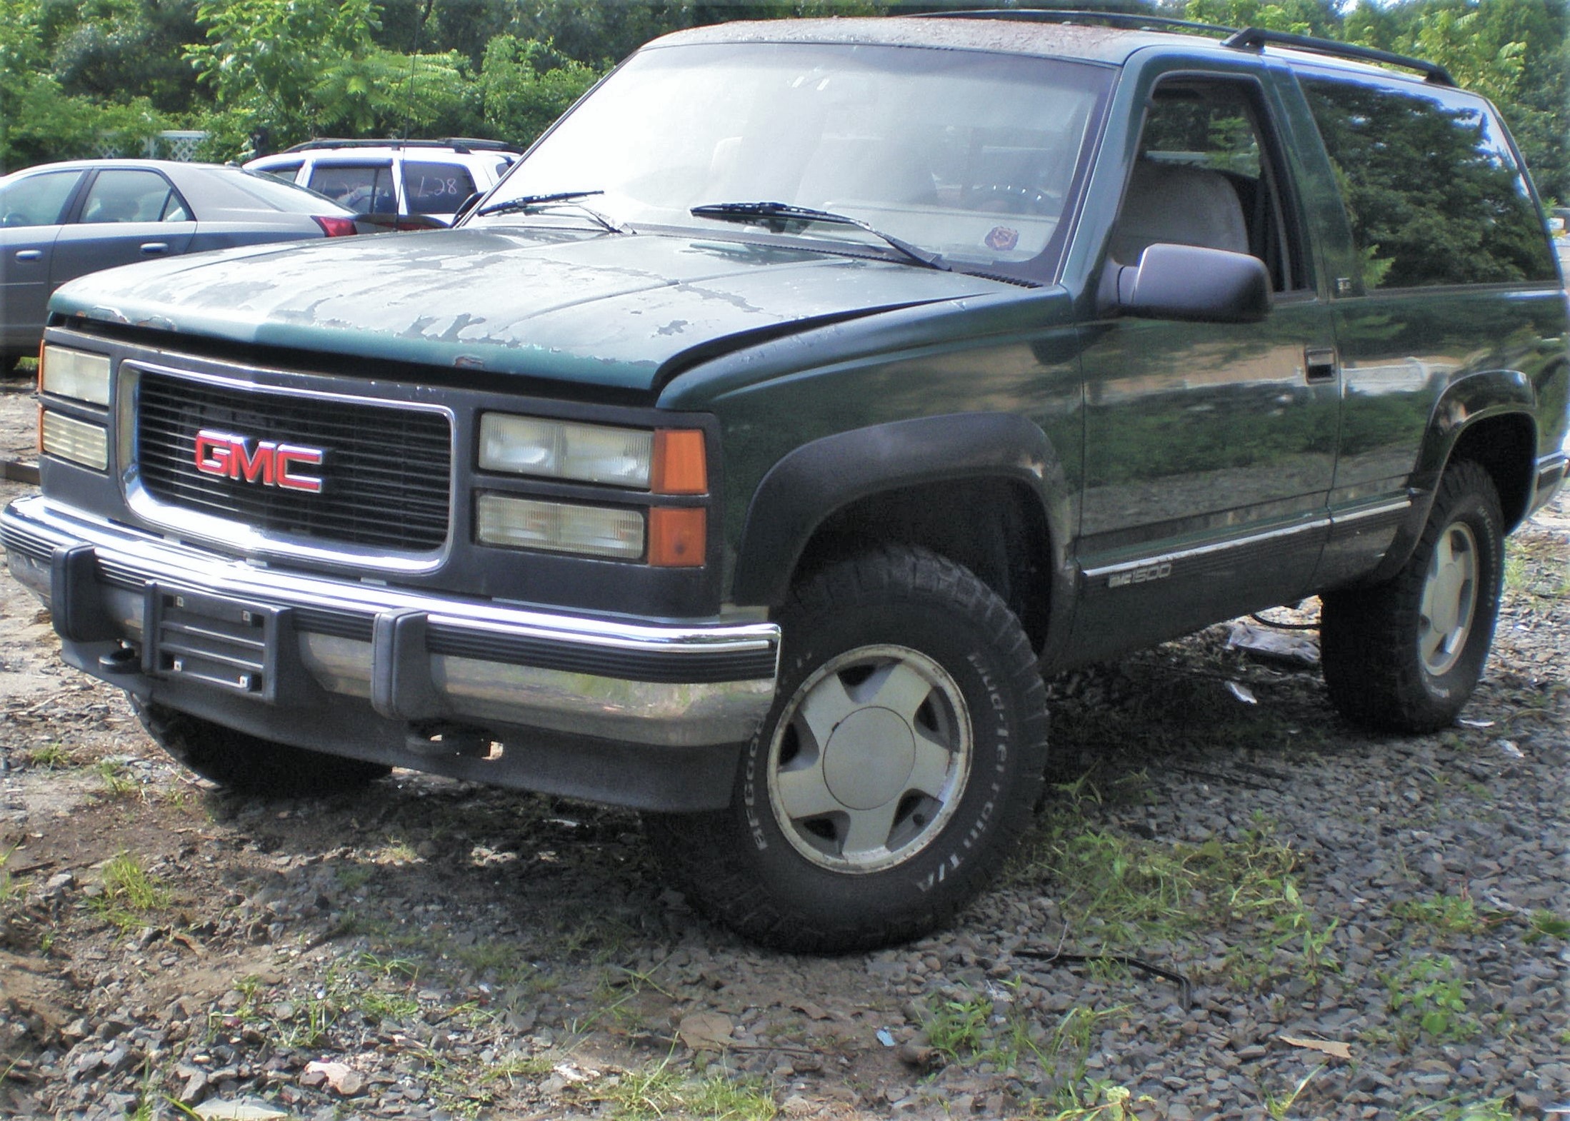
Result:
M11 573L242 790L628 805L703 911L846 950L1027 827L1041 675L1308 595L1449 724L1565 474L1567 300L1443 69L1118 16L728 24L455 229L52 303Z

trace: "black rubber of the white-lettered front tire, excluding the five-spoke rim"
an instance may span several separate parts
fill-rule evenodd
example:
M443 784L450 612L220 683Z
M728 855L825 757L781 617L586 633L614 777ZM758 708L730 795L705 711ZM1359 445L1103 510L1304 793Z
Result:
M907 907L884 922L867 922L865 915L821 922L793 909L763 882L749 859L752 842L735 802L730 809L710 813L645 815L652 846L675 884L706 918L754 942L793 953L849 953L906 942L951 922L991 882L1030 826L1047 763L1047 697L1030 639L992 589L967 568L925 548L890 545L860 553L791 590L777 612L785 636L780 689L749 752L761 752L760 766L766 766L776 719L790 694L815 667L791 664L794 650L810 642L805 636L793 641L798 626L813 619L838 619L871 604L901 601L947 609L972 623L1003 667L1000 688L1013 696L1017 707L1019 735L1008 744L1016 755L1013 780L984 849L961 864L942 890L923 895L925 906ZM738 768L735 799L741 798L744 771L746 754ZM977 782L975 774L970 782ZM766 805L761 813L769 813ZM958 823L951 821L948 829L955 827Z

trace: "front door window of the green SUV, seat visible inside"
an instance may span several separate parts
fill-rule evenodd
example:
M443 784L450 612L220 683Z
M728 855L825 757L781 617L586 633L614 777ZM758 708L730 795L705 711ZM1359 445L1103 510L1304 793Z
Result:
M1259 257L1276 292L1308 287L1256 96L1243 82L1156 88L1112 239L1119 264L1159 242L1198 245Z

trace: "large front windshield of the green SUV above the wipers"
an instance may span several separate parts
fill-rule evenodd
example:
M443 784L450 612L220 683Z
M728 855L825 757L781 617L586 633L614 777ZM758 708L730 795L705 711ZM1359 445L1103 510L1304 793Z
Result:
M1104 68L962 50L655 47L573 110L487 198L491 217L471 221L582 221L570 206L502 204L593 192L619 223L717 234L744 226L692 207L780 203L857 218L951 267L1039 278L1055 268L1108 85ZM884 250L854 225L788 232Z

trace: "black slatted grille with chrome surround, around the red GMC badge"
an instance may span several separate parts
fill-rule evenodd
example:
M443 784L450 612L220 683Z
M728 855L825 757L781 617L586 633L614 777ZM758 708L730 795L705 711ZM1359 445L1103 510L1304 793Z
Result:
M399 551L447 539L452 433L443 413L295 396L143 372L137 465L160 502L287 537ZM196 469L196 433L212 429L325 452L320 493Z

